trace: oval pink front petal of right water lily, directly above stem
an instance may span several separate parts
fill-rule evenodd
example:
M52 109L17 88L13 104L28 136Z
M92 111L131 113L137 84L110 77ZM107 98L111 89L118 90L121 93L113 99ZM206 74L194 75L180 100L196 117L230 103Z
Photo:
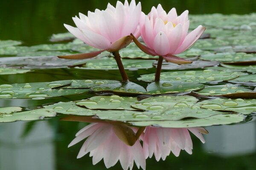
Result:
M164 32L160 31L154 38L154 51L158 55L164 56L168 54L169 50L170 44L167 35Z

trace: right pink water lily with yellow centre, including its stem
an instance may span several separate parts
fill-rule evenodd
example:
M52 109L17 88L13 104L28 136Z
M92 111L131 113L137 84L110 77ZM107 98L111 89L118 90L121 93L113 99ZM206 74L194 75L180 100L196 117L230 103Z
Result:
M133 40L146 54L159 56L155 81L160 79L163 58L176 64L191 63L174 55L193 45L206 28L198 26L188 34L188 13L186 10L177 16L176 9L172 8L167 14L159 4L157 8L152 7L151 12L144 14L140 20L141 37L146 45L141 44L135 36Z

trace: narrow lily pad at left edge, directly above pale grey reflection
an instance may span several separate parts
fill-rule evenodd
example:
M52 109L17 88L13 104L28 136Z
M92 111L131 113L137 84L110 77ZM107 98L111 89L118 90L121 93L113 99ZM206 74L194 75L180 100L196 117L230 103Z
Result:
M23 111L0 116L0 122L15 122L18 120L31 121L44 119L44 117L54 117L55 111L52 109L36 109L32 111Z

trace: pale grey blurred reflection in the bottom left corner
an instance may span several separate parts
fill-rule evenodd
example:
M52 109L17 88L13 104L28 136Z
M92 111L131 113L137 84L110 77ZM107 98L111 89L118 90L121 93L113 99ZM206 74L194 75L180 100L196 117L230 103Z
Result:
M23 135L27 122L0 125L0 170L55 170L54 132L47 121L36 122Z

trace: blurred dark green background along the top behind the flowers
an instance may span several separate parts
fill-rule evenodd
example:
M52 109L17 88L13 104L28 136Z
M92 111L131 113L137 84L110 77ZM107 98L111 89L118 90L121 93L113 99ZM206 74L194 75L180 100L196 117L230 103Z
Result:
M124 1L124 0L122 0ZM140 0L143 11L162 4L178 14L248 14L256 12L256 0ZM116 0L0 0L0 40L22 40L24 45L46 43L53 33L66 32L63 23L73 25L72 17L95 8L105 9ZM137 0L139 2L139 0Z

